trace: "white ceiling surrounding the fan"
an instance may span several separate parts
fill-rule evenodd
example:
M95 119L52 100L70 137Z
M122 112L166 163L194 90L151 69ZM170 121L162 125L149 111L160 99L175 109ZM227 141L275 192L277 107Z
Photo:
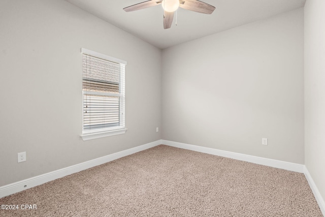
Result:
M125 12L146 0L66 0L161 49L221 32L245 23L304 7L306 0L202 0L216 7L211 15L177 10L171 28L163 27L163 8ZM185 0L186 1L186 0Z

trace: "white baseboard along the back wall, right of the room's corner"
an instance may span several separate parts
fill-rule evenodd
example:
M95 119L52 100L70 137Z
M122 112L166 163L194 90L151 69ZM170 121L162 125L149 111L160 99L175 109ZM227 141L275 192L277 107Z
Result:
M236 160L240 160L240 161L246 161L246 162L250 162L250 163L254 163L254 164L261 164L261 165L265 165L265 166L269 166L269 167L275 167L275 168L290 170L290 171L294 171L294 172L300 172L300 173L304 172L304 165L302 165L302 164L295 164L295 163L278 161L278 160L273 160L273 159L268 159L268 158L255 157L255 156L251 156L248 154L218 150L218 149L214 149L214 148L207 148L207 147L202 147L202 146L197 146L197 145L189 145L189 144L185 144L185 143L172 142L172 141L168 141L168 140L162 140L161 142L165 145L178 147L178 148L184 148L184 149L193 150L193 151L199 151L199 152L203 152L203 153L209 153L209 154L213 154L213 155L220 156L220 157L231 158L231 159L236 159Z

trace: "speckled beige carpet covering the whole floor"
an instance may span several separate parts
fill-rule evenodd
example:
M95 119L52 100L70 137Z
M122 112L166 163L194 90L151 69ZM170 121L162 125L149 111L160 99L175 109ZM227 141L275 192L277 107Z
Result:
M0 199L0 216L322 216L302 173L159 145Z

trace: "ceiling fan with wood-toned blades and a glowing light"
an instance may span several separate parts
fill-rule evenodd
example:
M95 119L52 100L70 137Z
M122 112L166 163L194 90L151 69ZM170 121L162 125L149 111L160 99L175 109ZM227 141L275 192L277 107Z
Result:
M126 12L137 11L140 9L150 8L157 5L161 5L164 8L165 29L170 28L172 26L174 12L178 9L178 7L203 14L212 14L215 9L215 7L213 7L212 5L200 2L198 0L150 0L123 8L123 10Z

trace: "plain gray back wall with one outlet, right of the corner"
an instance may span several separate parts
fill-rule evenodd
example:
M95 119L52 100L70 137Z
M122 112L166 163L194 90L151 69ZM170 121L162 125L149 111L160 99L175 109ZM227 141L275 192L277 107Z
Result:
M162 87L163 139L304 164L302 8L163 50Z

